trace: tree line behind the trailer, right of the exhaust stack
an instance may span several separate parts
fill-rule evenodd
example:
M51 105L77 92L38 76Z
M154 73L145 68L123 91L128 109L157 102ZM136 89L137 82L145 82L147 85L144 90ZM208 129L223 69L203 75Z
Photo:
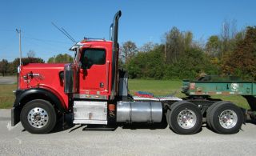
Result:
M222 34L210 36L205 45L177 27L166 32L159 45L149 42L138 48L128 41L120 48L121 67L130 78L194 79L210 74L255 81L256 27L234 30L226 24Z

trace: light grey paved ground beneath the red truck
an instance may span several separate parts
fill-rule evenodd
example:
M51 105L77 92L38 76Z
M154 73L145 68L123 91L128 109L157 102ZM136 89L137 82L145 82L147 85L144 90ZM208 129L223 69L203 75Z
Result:
M30 134L19 123L10 127L10 110L0 110L0 155L255 155L256 125L238 134L215 134L206 127L194 135L164 129L84 131L84 126Z

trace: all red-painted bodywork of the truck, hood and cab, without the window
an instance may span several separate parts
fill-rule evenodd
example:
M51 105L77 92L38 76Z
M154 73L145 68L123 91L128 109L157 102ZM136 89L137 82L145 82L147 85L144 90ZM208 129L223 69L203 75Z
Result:
M79 70L78 93L91 97L105 96L110 99L111 75L112 75L112 42L108 41L82 41L86 48L98 48L106 50L106 63L104 65L93 65L90 69ZM69 97L64 92L63 80L59 77L64 70L63 63L30 63L22 66L19 77L19 89L44 88L54 93L62 102L62 106L69 108ZM103 87L100 87L103 83Z

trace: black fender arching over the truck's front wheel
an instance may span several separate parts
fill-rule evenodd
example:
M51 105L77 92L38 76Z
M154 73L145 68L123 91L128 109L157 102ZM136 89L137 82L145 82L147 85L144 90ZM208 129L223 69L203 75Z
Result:
M33 96L34 94L41 94L46 96L47 98L50 98L52 102L54 102L54 105L57 106L58 110L60 110L62 113L67 112L64 108L65 104L62 99L59 99L57 95L52 93L50 90L42 89L42 88L31 88L29 90L16 90L15 92L15 102L14 106L11 109L11 126L15 126L18 122L20 122L20 113L22 110L22 105L24 103L21 103L22 100Z

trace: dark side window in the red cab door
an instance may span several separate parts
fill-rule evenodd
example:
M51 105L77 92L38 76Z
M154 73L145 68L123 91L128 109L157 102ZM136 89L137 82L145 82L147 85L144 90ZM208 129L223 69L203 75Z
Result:
M106 51L102 49L83 50L80 62L82 69L90 69L93 65L104 65L106 63Z

